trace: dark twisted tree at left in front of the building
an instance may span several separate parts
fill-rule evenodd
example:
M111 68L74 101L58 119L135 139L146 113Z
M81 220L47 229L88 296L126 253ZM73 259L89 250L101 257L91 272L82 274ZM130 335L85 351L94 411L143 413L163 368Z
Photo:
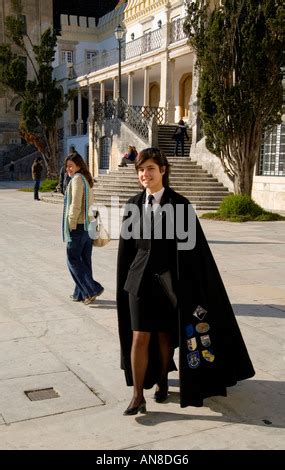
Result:
M23 27L21 2L16 0L13 3L17 14L7 17L5 26L6 34L18 53L14 52L11 44L0 45L0 84L22 99L20 134L41 152L48 177L57 177L57 120L75 92L70 91L64 96L52 77L55 32L51 28L47 29L41 35L39 45L32 44ZM32 65L32 79L28 78L23 53Z

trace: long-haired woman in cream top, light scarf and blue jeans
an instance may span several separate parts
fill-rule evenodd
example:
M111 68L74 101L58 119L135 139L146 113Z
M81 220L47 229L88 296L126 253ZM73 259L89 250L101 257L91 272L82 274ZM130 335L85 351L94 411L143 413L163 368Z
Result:
M92 240L88 225L92 219L93 178L83 160L75 153L67 157L65 168L71 180L64 198L63 239L67 242L67 266L75 282L71 296L75 302L92 303L104 291L92 275Z

